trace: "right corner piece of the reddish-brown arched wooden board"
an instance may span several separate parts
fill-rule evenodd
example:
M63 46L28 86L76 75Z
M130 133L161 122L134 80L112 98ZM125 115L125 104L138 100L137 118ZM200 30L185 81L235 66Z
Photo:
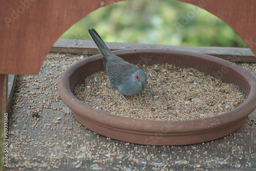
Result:
M216 15L236 31L256 54L256 1L211 1L211 0L179 0L196 5Z

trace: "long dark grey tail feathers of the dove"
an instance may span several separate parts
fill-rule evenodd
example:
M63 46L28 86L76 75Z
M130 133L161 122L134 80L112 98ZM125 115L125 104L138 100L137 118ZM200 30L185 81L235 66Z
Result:
M108 57L109 54L111 54L112 52L110 51L110 49L106 46L106 44L104 43L104 41L101 39L101 37L99 36L99 34L96 32L96 30L94 29L89 29L88 30L91 38L93 39L93 41L95 42L95 44L98 47L99 52L102 54L103 57Z

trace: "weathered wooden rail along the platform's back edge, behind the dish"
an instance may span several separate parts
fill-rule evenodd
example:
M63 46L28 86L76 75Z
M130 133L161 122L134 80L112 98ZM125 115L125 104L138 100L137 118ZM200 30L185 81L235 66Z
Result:
M173 49L188 52L203 53L216 56L229 61L256 62L254 54L249 48L223 48L223 47L193 47L193 46L170 46L150 44L129 44L122 42L105 42L110 50L122 49ZM99 54L99 50L92 40L58 39L50 50L52 53L74 53L74 54Z

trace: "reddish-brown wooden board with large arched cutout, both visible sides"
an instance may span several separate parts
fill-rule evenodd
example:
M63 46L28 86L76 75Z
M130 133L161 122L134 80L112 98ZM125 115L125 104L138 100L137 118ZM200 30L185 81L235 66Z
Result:
M57 38L101 6L122 0L9 0L0 10L0 74L38 74ZM256 54L256 1L180 0L199 6L232 27ZM148 1L150 3L150 1Z

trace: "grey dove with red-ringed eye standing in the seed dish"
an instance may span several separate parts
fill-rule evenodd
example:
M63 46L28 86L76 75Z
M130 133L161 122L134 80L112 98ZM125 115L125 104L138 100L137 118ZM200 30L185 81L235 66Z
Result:
M88 30L103 56L103 65L113 88L124 95L133 96L142 92L147 85L144 71L114 55L94 29Z

